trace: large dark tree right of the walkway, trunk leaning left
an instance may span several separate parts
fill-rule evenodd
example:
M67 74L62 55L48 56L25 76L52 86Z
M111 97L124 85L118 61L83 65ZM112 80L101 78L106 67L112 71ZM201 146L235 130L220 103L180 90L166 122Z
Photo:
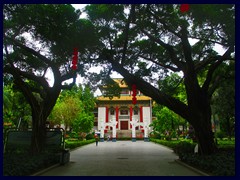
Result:
M89 61L104 67L101 76L94 74L97 81L117 71L129 87L136 84L185 118L195 129L199 152L211 154L215 144L210 99L221 81L216 70L235 58L235 7L202 4L190 5L188 12L179 9L171 4L88 5L86 13L99 36ZM225 48L223 54L213 49L216 44ZM169 72L182 73L187 102L158 87Z

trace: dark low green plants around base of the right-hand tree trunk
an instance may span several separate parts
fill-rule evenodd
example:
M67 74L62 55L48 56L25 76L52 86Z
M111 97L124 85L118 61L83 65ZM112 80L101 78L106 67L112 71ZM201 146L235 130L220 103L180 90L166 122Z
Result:
M212 176L235 175L235 141L219 140L218 151L212 155L194 154L196 143L190 140L166 141L150 138L150 141L167 146L179 155L179 159L190 166ZM225 146L225 147L224 147Z

